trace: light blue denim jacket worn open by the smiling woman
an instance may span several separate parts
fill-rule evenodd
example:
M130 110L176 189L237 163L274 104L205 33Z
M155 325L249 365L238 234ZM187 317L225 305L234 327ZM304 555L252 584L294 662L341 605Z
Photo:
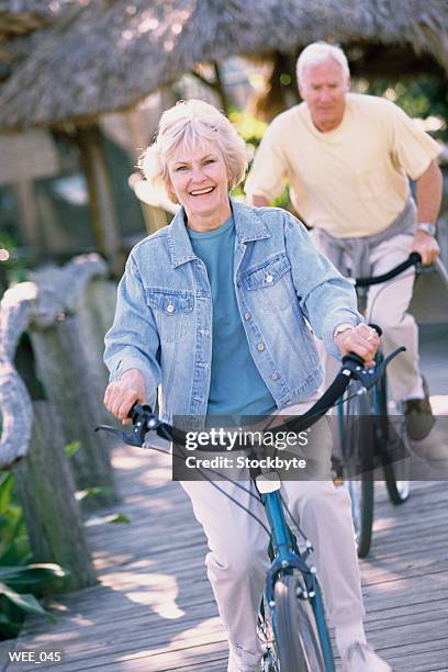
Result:
M305 227L275 208L232 200L234 283L255 363L279 408L304 401L322 383L314 334L338 358L334 328L359 324L352 285L314 248ZM138 243L119 284L104 361L117 380L145 379L160 416L204 416L212 361L212 298L205 265L191 247L181 209L169 226Z

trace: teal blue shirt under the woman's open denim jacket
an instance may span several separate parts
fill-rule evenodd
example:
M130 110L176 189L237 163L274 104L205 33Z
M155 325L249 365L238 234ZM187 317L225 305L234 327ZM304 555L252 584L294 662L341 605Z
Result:
M206 233L188 229L205 264L212 291L212 366L208 415L267 415L277 408L254 359L234 285L235 223L231 216Z

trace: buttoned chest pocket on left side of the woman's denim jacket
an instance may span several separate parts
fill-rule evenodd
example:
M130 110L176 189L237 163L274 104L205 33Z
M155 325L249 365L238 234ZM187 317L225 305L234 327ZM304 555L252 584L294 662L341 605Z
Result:
M193 292L147 288L145 299L146 304L153 309L161 347L164 340L178 340L192 327Z

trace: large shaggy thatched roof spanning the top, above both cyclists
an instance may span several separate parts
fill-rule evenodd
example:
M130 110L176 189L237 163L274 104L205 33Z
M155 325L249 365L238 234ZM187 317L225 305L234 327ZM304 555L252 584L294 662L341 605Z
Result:
M447 0L82 0L40 34L0 91L0 127L135 105L199 61L315 40L402 45L448 71Z

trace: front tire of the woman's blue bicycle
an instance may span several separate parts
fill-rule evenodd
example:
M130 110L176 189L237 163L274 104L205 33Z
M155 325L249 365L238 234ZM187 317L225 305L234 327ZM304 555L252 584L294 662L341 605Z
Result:
M302 596L296 574L280 576L275 587L275 632L281 672L325 672L313 608Z

